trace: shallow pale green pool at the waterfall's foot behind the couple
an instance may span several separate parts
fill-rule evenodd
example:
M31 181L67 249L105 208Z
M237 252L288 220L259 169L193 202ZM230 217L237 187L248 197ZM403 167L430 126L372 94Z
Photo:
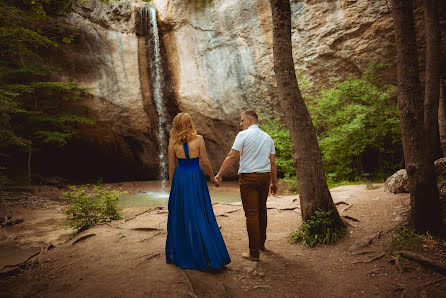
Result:
M240 202L240 194L236 191L218 191L209 189L212 203ZM168 190L146 191L128 194L121 197L119 205L129 207L167 207L169 202Z

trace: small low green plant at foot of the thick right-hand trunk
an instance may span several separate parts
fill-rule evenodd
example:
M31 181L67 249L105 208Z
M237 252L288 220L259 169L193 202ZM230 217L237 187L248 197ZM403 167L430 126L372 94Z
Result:
M420 250L423 242L423 236L418 235L412 226L403 225L394 230L389 239L389 253L397 257L400 250Z

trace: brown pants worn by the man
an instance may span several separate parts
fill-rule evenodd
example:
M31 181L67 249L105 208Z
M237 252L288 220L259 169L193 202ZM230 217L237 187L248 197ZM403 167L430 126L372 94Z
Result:
M246 217L249 251L259 256L259 249L266 240L266 199L268 198L270 173L240 174L240 195Z

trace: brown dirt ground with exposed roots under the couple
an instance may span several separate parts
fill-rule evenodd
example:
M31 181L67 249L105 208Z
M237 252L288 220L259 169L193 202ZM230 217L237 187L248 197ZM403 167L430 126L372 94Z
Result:
M144 187L123 185L133 192ZM4 193L2 212L24 221L0 228L0 296L446 296L445 275L405 259L395 264L387 254L392 230L407 216L408 194L385 192L382 184L370 190L365 185L341 186L331 192L348 223L338 243L316 248L290 243L290 233L301 222L298 197L271 197L267 250L258 263L240 256L248 248L240 203L214 204L232 259L217 272L166 264L165 208L124 210L124 219L70 238L71 230L61 226L65 204L58 199L59 190L39 187ZM425 245L420 254L444 265L445 245Z

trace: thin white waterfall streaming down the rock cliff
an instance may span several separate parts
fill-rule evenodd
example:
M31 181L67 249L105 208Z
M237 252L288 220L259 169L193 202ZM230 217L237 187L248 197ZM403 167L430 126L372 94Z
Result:
M150 81L152 88L152 100L155 104L155 109L158 114L158 144L159 144L159 178L162 187L167 184L167 139L166 139L166 111L163 101L163 69L160 51L160 38L158 34L158 23L156 20L156 10L150 5L147 5L141 11L141 26L146 38L146 56L147 68L150 70Z

